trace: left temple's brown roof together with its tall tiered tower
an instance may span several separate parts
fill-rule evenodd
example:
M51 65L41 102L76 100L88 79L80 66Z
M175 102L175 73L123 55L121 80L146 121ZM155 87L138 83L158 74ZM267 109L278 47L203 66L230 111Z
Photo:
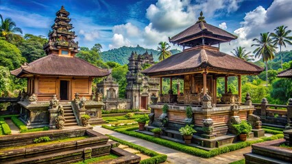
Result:
M70 77L105 77L110 70L101 69L97 66L75 57L78 52L78 44L73 39L76 37L69 12L64 6L56 12L53 31L49 33L49 42L43 49L47 56L37 59L21 68L12 70L11 74L16 77L27 77L29 74L47 76L70 76ZM64 53L63 53L64 52Z

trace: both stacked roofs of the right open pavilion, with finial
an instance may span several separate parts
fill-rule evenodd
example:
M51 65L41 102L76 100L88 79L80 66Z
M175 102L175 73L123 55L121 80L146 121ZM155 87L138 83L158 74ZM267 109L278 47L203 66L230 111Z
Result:
M211 46L234 39L236 36L233 34L206 23L201 12L195 25L169 38L169 42L173 44L190 48L184 49L182 53L171 55L142 72L153 77L200 72L206 68L208 71L224 72L225 74L259 74L262 72L263 68L222 53L218 47Z

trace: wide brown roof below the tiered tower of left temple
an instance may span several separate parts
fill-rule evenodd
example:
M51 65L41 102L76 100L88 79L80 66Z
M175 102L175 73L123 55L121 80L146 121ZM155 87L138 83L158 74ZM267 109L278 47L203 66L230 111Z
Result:
M97 68L77 57L60 57L47 55L25 66L12 70L11 74L20 77L21 74L40 74L67 77L106 77L109 70Z

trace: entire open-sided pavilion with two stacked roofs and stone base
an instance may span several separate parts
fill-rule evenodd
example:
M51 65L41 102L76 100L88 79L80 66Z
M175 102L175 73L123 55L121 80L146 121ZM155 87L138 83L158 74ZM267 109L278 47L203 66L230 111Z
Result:
M247 120L254 111L249 95L248 103L246 105L241 103L241 76L259 74L263 71L263 68L248 61L219 51L220 44L235 39L236 36L232 33L206 23L202 12L194 25L169 38L169 42L183 47L182 53L171 55L142 71L149 77L160 78L158 103L149 105L151 114L148 130L165 126L162 120L167 117L168 124L164 135L169 138L182 139L179 133L174 133L173 130L178 131L178 128L193 122L191 124L197 127L198 133L204 133L202 132L204 127L212 126L213 129L212 133L204 135L208 141L202 139L202 135L194 135L193 142L205 141L206 144L208 142L207 147L210 148L215 146L216 141L224 143L235 141L228 137L230 118ZM228 77L237 77L237 93L232 93L228 88ZM161 94L163 78L170 79L169 94ZM217 95L218 78L225 79L225 93L221 97ZM179 95L172 92L174 79L184 80L184 90L180 91ZM165 104L169 106L167 113L162 111ZM188 106L193 111L193 118L186 115ZM216 140L220 136L221 138ZM216 138L211 139L213 137ZM222 140L222 137L227 140Z

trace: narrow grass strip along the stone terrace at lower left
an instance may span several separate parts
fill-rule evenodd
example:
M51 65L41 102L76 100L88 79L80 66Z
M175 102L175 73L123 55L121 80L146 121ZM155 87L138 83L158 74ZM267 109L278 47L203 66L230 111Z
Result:
M80 139L86 139L88 136L82 136L82 137L73 137L73 138L66 138L66 139L59 139L56 141L47 141L47 142L42 142L42 143L32 143L26 146L13 146L13 147L8 147L8 148L1 148L0 152L3 150L10 150L10 149L16 149L16 148L31 148L34 146L44 146L44 145L49 145L51 143L60 143L60 142L65 142L65 141L77 141Z

